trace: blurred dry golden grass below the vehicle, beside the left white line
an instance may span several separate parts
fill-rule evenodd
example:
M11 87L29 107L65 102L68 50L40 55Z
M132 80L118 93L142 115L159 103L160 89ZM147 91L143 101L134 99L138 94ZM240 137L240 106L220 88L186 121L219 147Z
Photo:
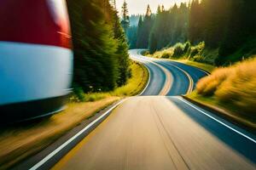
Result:
M32 127L6 129L0 135L0 169L44 148L79 122L118 99L119 97L108 97L96 102L69 104L67 110L43 122L33 123Z

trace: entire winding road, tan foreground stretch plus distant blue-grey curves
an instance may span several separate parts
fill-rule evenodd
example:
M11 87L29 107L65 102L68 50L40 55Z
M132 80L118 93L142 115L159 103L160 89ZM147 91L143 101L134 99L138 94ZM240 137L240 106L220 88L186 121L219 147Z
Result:
M53 169L256 169L256 138L178 97L207 72L131 50L150 80Z

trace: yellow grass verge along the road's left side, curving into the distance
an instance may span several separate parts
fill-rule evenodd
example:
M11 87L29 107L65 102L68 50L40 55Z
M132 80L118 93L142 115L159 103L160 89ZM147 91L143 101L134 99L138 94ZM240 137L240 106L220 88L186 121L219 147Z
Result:
M83 102L67 104L67 109L36 122L0 128L0 169L12 167L27 156L37 153L53 143L80 122L94 116L115 101L139 94L148 83L148 70L135 62L131 65L132 77L124 87L109 93L83 94Z

